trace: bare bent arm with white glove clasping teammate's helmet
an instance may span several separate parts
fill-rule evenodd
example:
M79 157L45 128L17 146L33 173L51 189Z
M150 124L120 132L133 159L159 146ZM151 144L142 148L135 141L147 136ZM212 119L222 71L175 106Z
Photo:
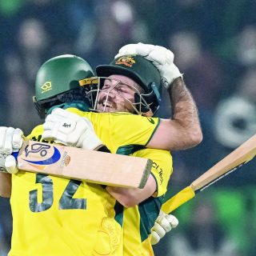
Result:
M198 145L202 141L198 110L182 74L174 65L174 54L165 47L142 43L123 46L115 57L125 54L140 54L153 62L161 74L162 84L172 104L172 118L161 119L158 130L147 146L182 150Z

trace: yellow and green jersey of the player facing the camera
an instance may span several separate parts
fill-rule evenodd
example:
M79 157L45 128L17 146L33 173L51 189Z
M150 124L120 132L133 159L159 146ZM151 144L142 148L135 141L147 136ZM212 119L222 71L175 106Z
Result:
M154 159L151 174L158 185L158 197L166 193L170 174L172 172L172 158L170 152L165 150L139 150L135 156ZM154 255L150 243L150 230L154 226L154 221L158 217L158 212L162 206L160 198L150 197L140 206L134 206L124 210L124 255L125 256L150 256ZM149 221L152 220L151 222ZM145 237L146 236L146 237Z

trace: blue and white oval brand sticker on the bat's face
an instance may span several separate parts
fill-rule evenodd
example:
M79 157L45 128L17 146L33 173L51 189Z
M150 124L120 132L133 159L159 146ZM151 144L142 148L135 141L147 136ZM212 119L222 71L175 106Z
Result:
M30 164L39 166L49 166L54 162L58 162L58 160L61 158L61 153L53 145L46 145L44 143L34 143L32 146L26 146L25 156L26 158L23 158L23 160L29 162ZM40 160L37 160L37 158L39 158Z

